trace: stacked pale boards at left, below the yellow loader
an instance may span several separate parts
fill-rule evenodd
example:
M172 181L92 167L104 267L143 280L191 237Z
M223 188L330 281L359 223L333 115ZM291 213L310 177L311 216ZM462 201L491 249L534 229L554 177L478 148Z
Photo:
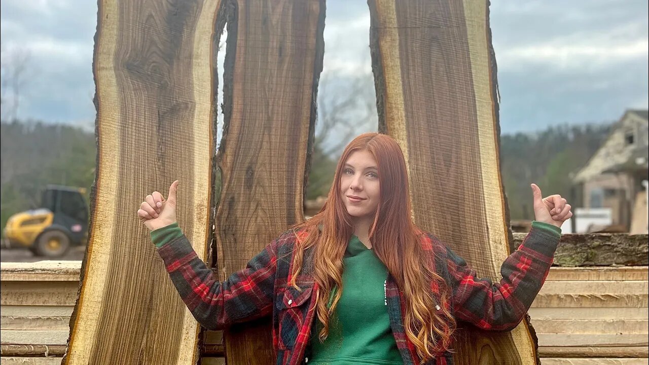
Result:
M60 364L77 300L81 262L0 265L0 364Z

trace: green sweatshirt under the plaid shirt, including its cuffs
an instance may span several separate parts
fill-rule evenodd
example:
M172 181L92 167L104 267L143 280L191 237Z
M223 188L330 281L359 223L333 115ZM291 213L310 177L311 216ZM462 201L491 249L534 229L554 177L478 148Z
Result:
M532 226L561 235L561 229L533 221ZM182 236L178 223L151 231L156 247ZM387 314L386 266L356 236L343 257L343 292L330 320L329 335L320 343L322 325L312 326L308 364L403 364ZM330 300L332 297L330 297Z

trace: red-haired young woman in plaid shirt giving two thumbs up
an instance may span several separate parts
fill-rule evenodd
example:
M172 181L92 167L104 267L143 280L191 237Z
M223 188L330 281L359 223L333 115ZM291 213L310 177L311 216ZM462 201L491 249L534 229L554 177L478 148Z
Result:
M277 364L452 364L456 321L509 331L541 289L572 216L559 195L502 264L480 278L411 220L408 173L397 142L361 134L345 148L322 210L282 233L226 281L197 257L176 222L178 181L138 210L171 281L203 327L270 316Z

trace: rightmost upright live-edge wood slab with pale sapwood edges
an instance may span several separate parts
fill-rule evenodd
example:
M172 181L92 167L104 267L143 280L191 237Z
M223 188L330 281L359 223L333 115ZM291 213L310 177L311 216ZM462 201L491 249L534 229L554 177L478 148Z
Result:
M406 155L415 221L500 279L511 233L487 2L368 3L379 130ZM459 335L456 364L538 361L526 321L511 333Z

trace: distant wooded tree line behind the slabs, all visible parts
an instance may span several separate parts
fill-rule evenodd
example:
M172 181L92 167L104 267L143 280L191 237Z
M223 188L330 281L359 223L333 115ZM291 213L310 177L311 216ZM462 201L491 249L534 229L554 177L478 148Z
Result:
M602 144L610 124L550 127L534 134L500 137L501 172L511 219L532 219L530 183L544 194L571 201L571 178ZM40 205L47 184L84 187L90 193L95 178L95 135L77 127L40 122L1 123L0 224L16 212ZM319 142L318 142L319 141ZM341 146L327 149L317 139L307 186L307 199L326 196Z

